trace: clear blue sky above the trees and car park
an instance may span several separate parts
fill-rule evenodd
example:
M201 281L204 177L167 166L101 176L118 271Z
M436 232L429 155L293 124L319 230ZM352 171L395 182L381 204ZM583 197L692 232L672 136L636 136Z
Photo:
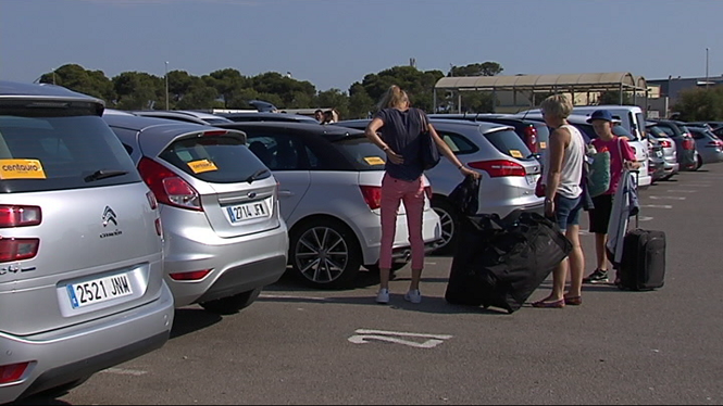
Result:
M227 67L347 91L364 75L498 62L503 75L723 74L719 0L0 0L0 78Z

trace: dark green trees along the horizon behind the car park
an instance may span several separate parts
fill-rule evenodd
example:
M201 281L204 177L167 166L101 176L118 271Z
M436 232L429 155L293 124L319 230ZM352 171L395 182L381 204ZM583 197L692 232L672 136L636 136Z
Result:
M77 64L65 64L40 76L39 81L57 84L71 90L90 94L105 101L108 107L119 110L209 110L252 109L252 100L263 100L284 109L335 107L342 119L363 118L375 111L375 104L391 85L398 85L410 94L412 104L432 112L434 86L445 77L496 76L503 67L497 62L450 66L445 75L439 69L420 71L414 66L394 66L367 74L349 89L332 88L319 91L308 80L297 80L276 72L245 76L235 68L225 68L208 75L194 76L185 71L171 71L166 77L144 72L123 72L112 78L102 71L89 71ZM464 92L461 105L450 94L438 94L445 109L487 113L494 111L490 92ZM538 99L538 102L543 98ZM602 103L618 104L619 92L600 96ZM629 103L625 97L624 102ZM689 120L723 119L723 87L682 92L674 110Z

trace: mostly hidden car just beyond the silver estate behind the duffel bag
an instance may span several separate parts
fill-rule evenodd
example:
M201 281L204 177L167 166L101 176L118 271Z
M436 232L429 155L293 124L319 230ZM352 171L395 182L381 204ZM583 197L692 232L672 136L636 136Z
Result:
M550 130L545 123L528 120L512 114L464 113L464 114L429 114L429 118L466 119L471 122L497 123L514 127L514 131L522 138L532 153L540 155L544 160Z

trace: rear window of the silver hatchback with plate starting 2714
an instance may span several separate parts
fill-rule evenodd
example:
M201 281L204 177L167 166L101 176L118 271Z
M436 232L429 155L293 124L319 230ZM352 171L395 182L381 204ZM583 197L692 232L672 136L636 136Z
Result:
M271 176L271 170L235 137L179 139L159 156L186 174L212 183L236 183Z

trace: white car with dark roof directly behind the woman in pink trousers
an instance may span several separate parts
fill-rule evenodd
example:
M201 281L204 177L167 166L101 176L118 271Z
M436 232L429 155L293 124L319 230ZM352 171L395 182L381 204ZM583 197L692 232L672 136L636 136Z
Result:
M278 114L278 113L276 113ZM347 288L360 266L377 270L382 178L386 154L363 131L307 123L234 123L279 182L281 213L289 227L289 263L315 288ZM429 182L424 183L428 191ZM409 262L403 205L399 208L392 269ZM423 238L433 250L439 217L425 198Z

